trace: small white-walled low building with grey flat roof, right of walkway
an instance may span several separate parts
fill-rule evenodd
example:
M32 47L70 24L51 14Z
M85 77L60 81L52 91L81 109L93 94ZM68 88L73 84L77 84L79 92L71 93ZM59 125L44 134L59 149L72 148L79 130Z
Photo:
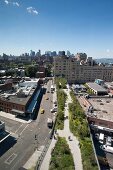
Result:
M94 92L96 95L107 95L108 92L105 88L102 86L98 85L97 83L86 83L88 87Z

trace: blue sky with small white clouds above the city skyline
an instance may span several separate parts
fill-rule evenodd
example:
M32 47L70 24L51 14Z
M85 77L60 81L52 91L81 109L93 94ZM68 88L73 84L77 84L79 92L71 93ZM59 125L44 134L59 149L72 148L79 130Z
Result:
M0 54L113 57L113 0L0 0Z

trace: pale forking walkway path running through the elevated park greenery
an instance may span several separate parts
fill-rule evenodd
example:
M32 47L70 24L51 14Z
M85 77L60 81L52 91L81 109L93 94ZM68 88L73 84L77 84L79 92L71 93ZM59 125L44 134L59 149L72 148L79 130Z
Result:
M81 159L81 152L79 149L79 142L77 138L70 132L69 129L69 119L66 117L69 117L69 112L68 112L68 104L72 102L71 96L70 96L70 90L64 90L67 93L68 99L66 102L66 107L65 107L65 120L64 120L64 130L57 130L57 133L60 137L65 137L67 140L67 143L69 145L69 148L71 149L71 153L73 155L74 159L74 164L75 164L75 170L83 170L82 167L82 159ZM68 140L68 137L71 137L71 140ZM45 158L42 162L42 165L40 167L41 170L48 170L49 169L49 163L51 160L51 151L55 146L55 143L57 140L52 139L52 142L50 144L50 147L45 155Z

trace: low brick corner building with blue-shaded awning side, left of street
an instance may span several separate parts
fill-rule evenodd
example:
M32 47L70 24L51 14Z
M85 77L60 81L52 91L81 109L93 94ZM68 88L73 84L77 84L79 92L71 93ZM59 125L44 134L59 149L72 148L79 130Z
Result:
M26 116L35 112L41 93L39 79L23 81L15 89L0 93L0 109Z

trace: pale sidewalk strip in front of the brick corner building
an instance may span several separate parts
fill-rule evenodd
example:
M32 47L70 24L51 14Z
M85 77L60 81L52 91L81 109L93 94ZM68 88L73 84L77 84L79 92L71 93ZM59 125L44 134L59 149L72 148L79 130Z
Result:
M16 118L15 115L13 114L10 114L10 113L5 113L3 111L0 111L0 116L2 117L6 117L8 119L11 119L11 120L14 120L14 121L17 121L17 122L21 122L21 123L30 123L32 120L22 120L22 119L19 119L19 118Z

